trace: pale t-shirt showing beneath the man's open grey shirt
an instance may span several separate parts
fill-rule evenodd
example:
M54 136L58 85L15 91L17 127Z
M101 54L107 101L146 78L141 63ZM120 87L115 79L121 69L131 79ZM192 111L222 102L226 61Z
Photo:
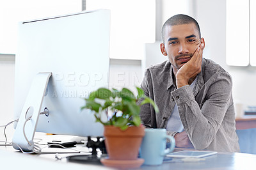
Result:
M192 84L190 84L191 89L194 88L196 81L197 81L197 77L192 82ZM182 131L184 131L184 127L183 127L182 122L180 120L180 115L179 115L177 104L175 104L174 109L172 111L172 114L171 114L170 118L168 119L166 130L171 131L171 132L182 132Z

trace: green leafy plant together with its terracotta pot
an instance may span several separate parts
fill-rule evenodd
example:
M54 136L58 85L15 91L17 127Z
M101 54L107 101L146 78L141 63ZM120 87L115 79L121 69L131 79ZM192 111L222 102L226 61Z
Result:
M145 134L144 127L141 126L140 106L152 104L158 112L154 101L146 97L142 89L136 89L138 95L135 96L127 88L99 88L90 93L88 98L84 98L86 104L81 109L92 110L96 121L104 125L109 160L138 159L138 151Z

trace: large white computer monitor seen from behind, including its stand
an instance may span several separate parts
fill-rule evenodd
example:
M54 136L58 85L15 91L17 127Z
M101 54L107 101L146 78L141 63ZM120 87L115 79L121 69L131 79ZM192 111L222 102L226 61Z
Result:
M108 87L109 32L109 10L19 23L14 109L19 122L14 148L31 150L28 141L33 142L35 131L103 135L103 126L95 122L93 113L81 107L90 92ZM49 115L40 115L46 108ZM31 117L26 121L28 114Z

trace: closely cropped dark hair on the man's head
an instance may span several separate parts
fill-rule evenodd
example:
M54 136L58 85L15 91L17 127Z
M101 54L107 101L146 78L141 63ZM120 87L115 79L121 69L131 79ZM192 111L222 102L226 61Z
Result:
M162 41L164 43L164 35L165 35L165 27L166 26L177 26L177 25L182 25L182 24L191 24L194 23L196 26L196 29L198 30L199 33L199 38L201 38L201 32L200 32L200 27L198 22L196 22L195 19L193 19L192 17L189 17L188 15L184 15L184 14L178 14L178 15L174 15L173 17L170 17L170 19L166 20L166 22L164 22L163 27L162 27Z

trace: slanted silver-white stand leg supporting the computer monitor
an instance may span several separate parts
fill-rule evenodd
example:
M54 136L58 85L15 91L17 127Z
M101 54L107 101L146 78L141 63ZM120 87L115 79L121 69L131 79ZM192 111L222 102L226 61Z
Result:
M28 92L25 104L22 108L16 130L13 135L13 148L22 151L34 150L34 135L36 124L40 115L45 91L47 93L47 84L51 77L51 72L36 74Z

